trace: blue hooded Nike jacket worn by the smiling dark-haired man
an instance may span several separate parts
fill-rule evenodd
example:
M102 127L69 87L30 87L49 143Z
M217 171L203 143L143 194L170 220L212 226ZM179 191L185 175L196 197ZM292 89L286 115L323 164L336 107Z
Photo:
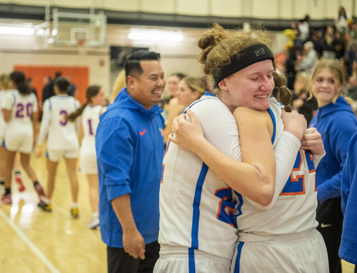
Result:
M111 200L130 194L131 210L145 244L159 236L159 189L164 155L164 119L122 89L100 116L95 136L99 179L99 220L103 242L123 247L122 228Z

